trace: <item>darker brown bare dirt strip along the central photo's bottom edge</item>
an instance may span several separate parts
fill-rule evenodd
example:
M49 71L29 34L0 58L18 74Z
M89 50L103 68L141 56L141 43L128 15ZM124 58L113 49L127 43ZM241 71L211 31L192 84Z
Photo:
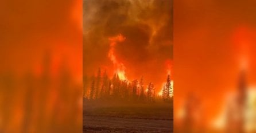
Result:
M84 116L83 132L172 132L172 120Z

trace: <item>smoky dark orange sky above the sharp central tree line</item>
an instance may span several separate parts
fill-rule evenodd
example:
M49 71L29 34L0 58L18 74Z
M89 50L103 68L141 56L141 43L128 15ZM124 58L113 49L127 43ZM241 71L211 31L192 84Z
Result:
M125 66L127 79L143 76L160 89L173 60L172 7L172 0L84 0L84 76L95 75L98 68L114 75L109 38L122 34L125 40L115 45L114 53Z

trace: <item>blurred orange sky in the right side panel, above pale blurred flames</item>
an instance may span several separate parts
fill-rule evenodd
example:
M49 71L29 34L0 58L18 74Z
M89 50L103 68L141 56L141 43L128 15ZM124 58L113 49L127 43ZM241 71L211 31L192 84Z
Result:
M236 89L241 58L249 85L256 83L255 1L174 2L174 114L195 93L212 120Z

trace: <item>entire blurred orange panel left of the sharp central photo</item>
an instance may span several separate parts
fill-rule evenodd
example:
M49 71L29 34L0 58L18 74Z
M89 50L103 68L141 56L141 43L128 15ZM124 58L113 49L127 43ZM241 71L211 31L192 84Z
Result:
M80 0L0 2L1 132L82 128L82 8ZM49 79L41 75L47 53ZM71 75L65 83L72 87L59 87L61 68Z

